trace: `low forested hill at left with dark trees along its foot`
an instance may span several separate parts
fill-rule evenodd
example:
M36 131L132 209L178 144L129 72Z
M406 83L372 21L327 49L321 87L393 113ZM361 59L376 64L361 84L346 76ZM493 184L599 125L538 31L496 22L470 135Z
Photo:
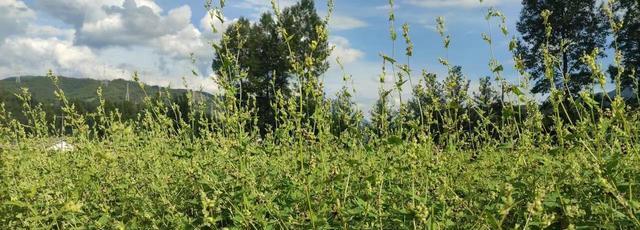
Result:
M95 80L86 78L60 77L59 86L64 91L66 98L76 106L80 112L95 111L98 106L98 87L102 87L102 95L106 101L106 110L118 110L123 119L135 119L137 114L144 108L144 92L150 97L155 97L158 92L167 89L158 86L143 85L144 92L140 85L134 81L122 79L116 80ZM43 110L48 114L60 114L60 104L55 97L55 87L48 77L23 76L19 81L16 77L0 80L0 103L4 103L5 110L13 117L22 122L26 121L26 116L22 111L22 103L15 96L20 93L21 88L27 88L31 93L32 105L42 104ZM127 90L128 88L128 90ZM129 100L127 100L127 91ZM169 89L174 103L186 107L184 89ZM209 99L211 94L200 92L195 99ZM48 117L55 119L55 117Z

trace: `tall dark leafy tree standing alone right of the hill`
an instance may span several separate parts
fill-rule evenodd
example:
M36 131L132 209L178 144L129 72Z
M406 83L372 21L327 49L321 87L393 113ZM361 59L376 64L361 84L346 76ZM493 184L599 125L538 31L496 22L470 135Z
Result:
M239 19L225 31L220 42L224 52L217 53L213 60L213 69L218 73L228 71L219 69L225 56L231 55L237 60L237 65L246 73L246 77L235 82L237 96L244 105L255 98L258 126L263 132L276 123L275 111L271 108L276 92L282 92L285 99L292 94L290 82L295 74L292 63L305 63L305 58L312 55L320 61L309 71L313 76L320 76L328 69L326 59L330 55L328 41L318 30L326 23L318 16L313 0L302 0L284 9L277 21L274 19L271 13L263 14L253 24L245 18ZM286 31L286 38L280 28ZM310 47L311 41L315 41L315 49Z

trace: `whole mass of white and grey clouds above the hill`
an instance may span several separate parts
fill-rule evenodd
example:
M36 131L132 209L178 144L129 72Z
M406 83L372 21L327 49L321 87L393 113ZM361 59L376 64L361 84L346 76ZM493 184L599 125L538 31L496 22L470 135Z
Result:
M22 1L0 0L0 77L51 69L69 77L129 79L138 71L147 84L184 88L186 82L217 91L206 29L191 23L189 6L167 13L153 0L36 0L34 6L71 28L36 24L36 13Z

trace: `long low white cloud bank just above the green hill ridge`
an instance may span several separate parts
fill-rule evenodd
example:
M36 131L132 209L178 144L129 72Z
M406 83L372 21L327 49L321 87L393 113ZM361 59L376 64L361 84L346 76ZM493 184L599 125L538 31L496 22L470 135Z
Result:
M148 48L109 48L94 53L87 46L75 46L72 41L57 38L12 37L0 46L0 53L4 54L0 56L0 76L3 77L43 75L52 70L68 77L130 79L131 73L138 71L147 84L217 91L211 73L192 76L187 60L171 60L168 69L160 71L156 63L148 61L162 56ZM143 61L136 61L140 59Z

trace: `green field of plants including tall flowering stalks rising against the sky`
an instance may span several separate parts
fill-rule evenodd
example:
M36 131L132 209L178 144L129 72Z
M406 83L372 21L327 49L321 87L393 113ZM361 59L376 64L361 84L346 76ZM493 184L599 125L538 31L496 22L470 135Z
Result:
M444 33L444 20L439 18L438 23L447 48L450 38ZM319 30L326 33L326 28ZM408 27L403 37L410 43ZM256 111L247 106L251 103L241 103L235 96L234 81L241 75L234 74L238 66L232 56L225 57L230 60L221 68L230 71L217 79L223 96L210 99L218 105L214 114L206 113L205 102L192 97L188 97L191 109L185 112L168 99L150 97L144 88L145 109L134 120L121 119L117 111L105 112L101 88L96 92L98 108L83 114L50 73L65 114L63 130L46 122L51 114L31 104L28 92L19 94L28 122L20 123L0 109L0 225L9 229L640 227L636 191L640 117L621 98L605 108L588 100L587 94L575 100L552 96L553 112L546 114L549 124L545 124L539 106L522 93L524 87L499 79L502 86L514 89L509 95L519 100L503 101L504 112L496 116L456 91L460 76L453 76L442 86L453 98L424 104L417 99L417 117L405 105L397 109L399 115L391 116L385 101L394 92L402 95L398 85L412 76L408 66L393 56L384 56L385 65L393 66L387 70L400 76L394 89L381 86L382 109L374 124L362 125L362 116L349 109L332 110L318 87L321 81L305 71L318 60L307 57L295 65L299 96L278 94L272 105L277 108L278 126L264 135L255 126ZM544 59L547 63L552 57ZM454 69L448 61L441 62ZM492 63L500 76L499 63ZM133 78L137 80L136 75ZM425 81L415 83L417 88L433 88ZM562 94L556 90L552 95ZM352 105L342 102L338 104L343 107ZM525 107L525 113L514 109ZM567 107L581 115L564 119ZM471 123L472 116L476 123ZM335 120L344 127L335 131L330 127ZM48 150L61 139L75 149Z

